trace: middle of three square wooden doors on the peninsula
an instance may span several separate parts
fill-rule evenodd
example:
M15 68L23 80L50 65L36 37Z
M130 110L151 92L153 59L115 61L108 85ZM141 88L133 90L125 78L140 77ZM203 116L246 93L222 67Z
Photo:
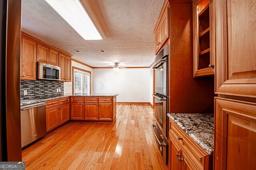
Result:
M84 107L85 120L98 120L98 103L88 103Z

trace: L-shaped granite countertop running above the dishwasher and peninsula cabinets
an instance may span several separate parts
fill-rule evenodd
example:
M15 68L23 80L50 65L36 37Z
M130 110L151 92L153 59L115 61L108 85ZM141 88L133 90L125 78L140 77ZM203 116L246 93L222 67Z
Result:
M117 93L94 93L94 94L64 94L63 96L56 96L52 98L43 98L43 99L30 99L30 100L21 100L20 101L20 106L28 105L28 104L34 104L34 103L39 103L39 102L45 102L48 100L54 100L54 99L60 99L60 98L66 98L66 97L114 97L118 96Z

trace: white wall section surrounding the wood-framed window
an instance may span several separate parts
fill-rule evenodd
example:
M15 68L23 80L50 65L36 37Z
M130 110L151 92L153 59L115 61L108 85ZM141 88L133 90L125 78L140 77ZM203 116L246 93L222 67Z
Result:
M72 93L72 85L73 85L73 82L72 82L72 80L73 80L73 79L72 79L72 76L73 76L73 66L91 72L91 92L93 92L93 69L90 68L90 67L88 67L88 66L85 66L85 65L83 65L83 64L76 63L75 61L72 61L71 64L72 64L72 68L71 68L71 82L64 82L64 94Z

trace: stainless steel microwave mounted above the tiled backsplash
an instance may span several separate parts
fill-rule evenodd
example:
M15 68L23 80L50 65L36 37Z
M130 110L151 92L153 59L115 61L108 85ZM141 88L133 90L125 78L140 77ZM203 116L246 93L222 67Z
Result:
M50 64L45 63L38 63L37 64L38 79L44 80L60 80L60 67L53 66Z

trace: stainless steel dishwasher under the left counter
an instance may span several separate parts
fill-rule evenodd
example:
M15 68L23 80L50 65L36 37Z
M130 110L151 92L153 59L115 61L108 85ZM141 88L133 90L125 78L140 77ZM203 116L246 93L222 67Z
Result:
M46 102L20 107L21 147L46 134Z

